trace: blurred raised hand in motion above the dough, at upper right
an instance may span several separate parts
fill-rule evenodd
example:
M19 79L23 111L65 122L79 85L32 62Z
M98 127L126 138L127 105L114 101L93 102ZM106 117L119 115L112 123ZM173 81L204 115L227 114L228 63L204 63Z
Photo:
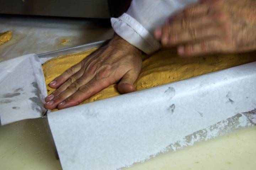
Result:
M245 52L256 49L255 0L201 0L155 30L164 47L181 56Z

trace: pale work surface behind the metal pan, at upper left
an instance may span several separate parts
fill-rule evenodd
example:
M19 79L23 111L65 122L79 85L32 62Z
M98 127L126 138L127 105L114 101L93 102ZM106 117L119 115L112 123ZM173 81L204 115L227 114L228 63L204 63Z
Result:
M0 61L106 40L114 33L106 20L97 19L5 16L0 23L0 33L11 30L13 34L0 46ZM62 39L70 42L60 45Z

